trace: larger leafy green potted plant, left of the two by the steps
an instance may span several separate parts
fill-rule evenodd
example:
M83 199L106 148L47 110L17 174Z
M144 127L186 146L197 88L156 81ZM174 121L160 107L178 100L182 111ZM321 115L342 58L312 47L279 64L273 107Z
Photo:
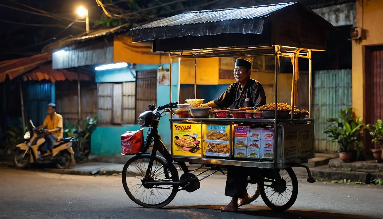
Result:
M362 151L362 142L360 141L362 120L354 119L352 108L341 109L339 119L327 119L332 124L323 132L328 135L331 142L337 142L340 145L339 158L343 162L352 162L354 153L357 159L360 158Z

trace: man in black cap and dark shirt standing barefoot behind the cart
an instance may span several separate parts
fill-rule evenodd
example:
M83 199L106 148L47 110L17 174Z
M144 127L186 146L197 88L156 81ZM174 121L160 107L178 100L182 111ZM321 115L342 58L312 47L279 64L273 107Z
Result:
M237 59L234 67L234 78L237 82L231 84L218 99L208 102L207 105L220 109L229 106L232 109L239 109L265 105L265 91L258 81L250 78L250 75L251 62L246 59ZM228 167L225 195L232 197L232 199L228 205L221 208L222 212L237 211L239 206L254 201L250 199L246 191L248 176L249 168L241 166Z

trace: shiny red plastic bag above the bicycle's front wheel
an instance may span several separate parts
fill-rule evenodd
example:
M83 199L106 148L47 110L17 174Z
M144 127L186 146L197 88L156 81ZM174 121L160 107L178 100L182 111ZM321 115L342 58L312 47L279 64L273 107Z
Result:
M121 135L121 154L140 153L144 145L144 129L137 131L128 131Z

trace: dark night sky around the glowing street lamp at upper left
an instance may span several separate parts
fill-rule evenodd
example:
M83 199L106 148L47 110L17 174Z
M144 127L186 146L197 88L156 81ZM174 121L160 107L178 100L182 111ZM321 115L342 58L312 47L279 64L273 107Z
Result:
M90 16L90 26L92 27L95 20L100 19L102 10L98 7L95 0L15 0L16 2L23 3L25 5L38 8L47 12L55 13L60 16L65 16L71 19L77 19L78 16L75 13L76 9L83 5L88 8ZM21 8L23 10L37 12L33 9L26 8L22 5L18 5L7 0L0 1L2 5L8 5L15 8ZM40 12L38 12L40 13ZM2 20L14 21L19 23L29 24L56 24L61 26L67 26L72 21L69 20L56 20L41 15L33 15L27 12L21 12L11 8L0 6L0 43L1 52L0 60L13 59L30 55L31 53L38 53L43 46L49 42L53 42L54 39L49 40L53 36L64 30L64 27L43 27L43 26L26 26L14 23L7 23ZM77 26L79 28L75 28ZM80 28L83 28L80 29ZM62 34L58 35L56 39L62 38L68 35L78 35L85 31L85 23L76 22L74 25ZM34 44L47 41L46 43L31 46ZM28 48L23 48L31 46Z

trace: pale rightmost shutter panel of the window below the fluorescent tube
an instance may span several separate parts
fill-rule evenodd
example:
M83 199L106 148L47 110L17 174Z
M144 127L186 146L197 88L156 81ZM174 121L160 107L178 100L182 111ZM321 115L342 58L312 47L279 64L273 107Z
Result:
M137 123L136 117L136 82L122 84L123 123Z

